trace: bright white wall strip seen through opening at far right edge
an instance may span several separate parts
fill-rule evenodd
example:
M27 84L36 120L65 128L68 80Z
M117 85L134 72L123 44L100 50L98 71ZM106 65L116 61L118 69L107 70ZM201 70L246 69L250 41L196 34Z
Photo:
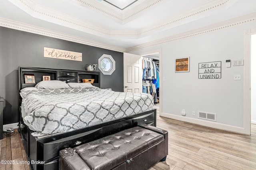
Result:
M251 122L256 124L256 34L252 35L251 40Z

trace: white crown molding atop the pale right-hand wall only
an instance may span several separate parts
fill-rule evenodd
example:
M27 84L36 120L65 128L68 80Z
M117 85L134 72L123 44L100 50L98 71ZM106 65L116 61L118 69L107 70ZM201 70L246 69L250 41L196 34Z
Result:
M186 38L191 38L191 37L196 37L198 35L204 35L204 34L208 34L208 33L212 33L212 32L216 32L216 31L220 31L222 29L228 29L230 27L235 27L235 26L239 26L239 25L243 25L243 24L247 24L247 23L251 23L251 22L255 22L256 21L256 13L252 13L252 14L248 14L246 16L242 16L242 17L238 17L232 20L228 20L228 21L224 21L221 23L217 23L214 25L210 25L207 27L203 27L200 29L196 29L196 30L192 30L192 31L188 31L186 33L181 33L178 35L174 35L174 36L170 36L170 37L166 37L163 39L159 39L156 41L152 41L149 43L144 43L142 45L138 45L132 48L128 48L126 49L126 53L131 52L131 51L136 51L139 49L144 49L144 48L149 48L149 47L153 47L156 45L162 45L165 43L170 43L172 41L178 41L178 40L182 40L182 39L186 39Z

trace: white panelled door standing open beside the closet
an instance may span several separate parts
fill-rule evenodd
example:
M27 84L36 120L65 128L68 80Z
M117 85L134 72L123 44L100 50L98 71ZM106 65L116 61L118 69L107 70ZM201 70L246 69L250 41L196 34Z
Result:
M142 92L142 60L140 55L124 53L124 92Z

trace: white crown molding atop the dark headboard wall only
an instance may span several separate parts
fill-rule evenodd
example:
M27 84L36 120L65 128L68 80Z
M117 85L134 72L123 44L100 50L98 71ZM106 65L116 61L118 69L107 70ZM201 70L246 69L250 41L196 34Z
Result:
M80 37L60 33L60 32L57 32L57 31L52 31L52 30L43 29L43 28L40 28L40 27L35 27L35 26L32 26L32 25L20 23L20 22L17 22L17 21L6 20L5 18L0 18L0 26L11 28L11 29L16 29L16 30L20 30L20 31L25 31L25 32L29 32L29 33L35 33L35 34L38 34L38 35L44 35L44 36L47 36L47 37L63 39L63 40L66 40L66 41L72 41L72 42L75 42L75 43L80 43L80 44L90 45L90 46L94 46L94 47L99 47L99 48L102 48L102 49L108 49L108 50L118 51L118 52L122 52L122 53L125 51L125 49L120 48L120 47L115 47L115 46L112 46L112 45L107 45L107 44L104 44L104 43L99 43L99 42L96 42L96 41L92 41L90 39L84 39L84 38L80 38Z

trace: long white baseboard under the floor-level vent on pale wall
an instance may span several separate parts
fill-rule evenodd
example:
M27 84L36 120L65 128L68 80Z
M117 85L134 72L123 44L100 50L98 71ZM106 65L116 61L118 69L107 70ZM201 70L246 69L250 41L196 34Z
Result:
M225 125L222 123L206 121L206 120L202 120L202 119L194 119L194 118L190 118L190 117L172 115L169 113L161 113L160 116L170 118L170 119L176 119L179 121L186 121L189 123L194 123L194 124L202 125L202 126L206 126L206 127L212 127L215 129L221 129L221 130L225 130L225 131L232 131L232 132L236 132L236 133L246 134L245 129L243 127L236 127L236 126L231 126L231 125Z

